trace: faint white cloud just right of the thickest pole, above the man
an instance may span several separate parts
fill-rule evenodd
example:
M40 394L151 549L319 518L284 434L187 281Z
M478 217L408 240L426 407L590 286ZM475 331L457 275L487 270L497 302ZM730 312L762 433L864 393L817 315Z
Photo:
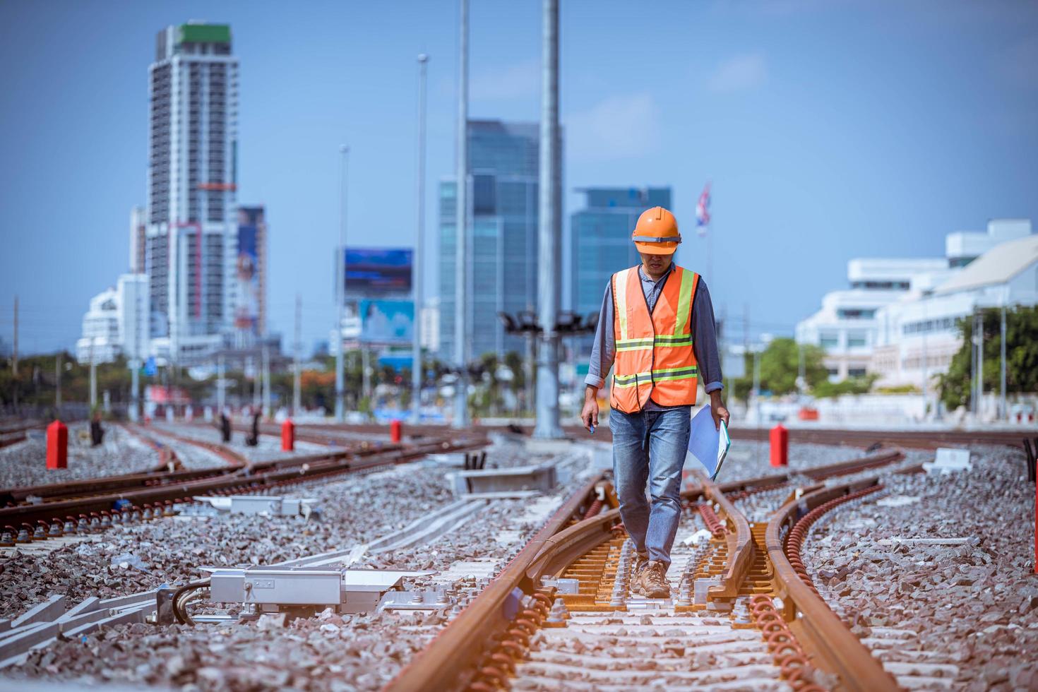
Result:
M648 92L609 96L566 118L566 150L580 161L637 158L659 143L656 103Z

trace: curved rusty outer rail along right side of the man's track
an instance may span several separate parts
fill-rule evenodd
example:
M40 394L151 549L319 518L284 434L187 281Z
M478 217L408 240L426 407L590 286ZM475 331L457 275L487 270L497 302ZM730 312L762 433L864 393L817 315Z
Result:
M792 499L775 513L765 534L768 557L774 569L775 592L783 601L790 629L810 647L819 667L840 676L843 689L861 692L899 688L825 601L800 580L787 558L783 529L791 530L800 517L831 499L876 485L877 478L866 478L822 488Z

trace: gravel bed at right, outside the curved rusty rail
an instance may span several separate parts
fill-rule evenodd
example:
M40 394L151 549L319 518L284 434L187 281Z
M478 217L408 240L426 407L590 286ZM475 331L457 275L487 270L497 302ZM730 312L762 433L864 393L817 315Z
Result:
M1035 487L1022 450L974 447L972 463L944 475L881 474L885 492L829 513L802 559L895 674L1035 689Z

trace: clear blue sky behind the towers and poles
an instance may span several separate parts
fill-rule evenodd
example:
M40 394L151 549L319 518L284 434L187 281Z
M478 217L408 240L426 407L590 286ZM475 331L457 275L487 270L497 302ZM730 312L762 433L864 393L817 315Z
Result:
M340 143L350 244L413 242L421 51L436 248L456 18L443 0L0 4L0 337L17 293L22 350L71 347L126 271L155 33L202 19L231 25L241 60L239 201L267 205L271 328L291 342L300 293L305 341L323 338ZM471 115L536 120L540 3L473 0L471 18ZM1038 221L1035 3L563 0L561 21L566 189L672 185L679 261L705 272L692 212L712 179L707 278L740 336L747 305L754 333L791 333L851 257L939 255L947 232Z

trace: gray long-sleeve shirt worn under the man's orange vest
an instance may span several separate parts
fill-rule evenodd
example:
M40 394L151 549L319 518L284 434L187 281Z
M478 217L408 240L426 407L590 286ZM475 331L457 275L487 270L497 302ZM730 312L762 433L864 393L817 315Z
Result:
M674 264L672 262L666 273L658 281L653 281L646 275L643 268L638 267L641 292L645 294L646 304L649 306L650 312L663 290L663 284L673 272ZM700 376L705 383L704 390L709 394L723 386L723 378L720 372L720 355L717 353L713 303L710 301L710 292L702 276L695 288L695 299L692 302L692 350L695 353ZM595 330L595 340L591 349L591 363L588 366L588 377L584 379L584 383L592 387L602 387L605 384L605 377L617 358L617 336L613 333L612 322L612 281L609 281L605 286L605 296L602 298L602 309L598 314L598 329ZM649 404L646 405L646 409L649 411L662 408L667 407L661 407L652 399L649 399Z

